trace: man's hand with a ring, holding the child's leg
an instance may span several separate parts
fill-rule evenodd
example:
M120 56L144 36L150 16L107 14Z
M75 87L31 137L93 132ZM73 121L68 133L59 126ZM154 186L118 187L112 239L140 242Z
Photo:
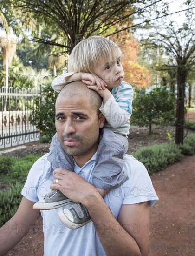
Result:
M75 172L57 168L53 174L53 183L50 188L59 190L72 201L86 205L88 200L95 195L95 187ZM56 183L56 180L58 180L58 183Z

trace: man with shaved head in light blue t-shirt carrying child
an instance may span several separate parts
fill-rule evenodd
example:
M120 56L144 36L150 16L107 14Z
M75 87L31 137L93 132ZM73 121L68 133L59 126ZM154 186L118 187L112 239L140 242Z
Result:
M157 196L144 166L128 156L125 171L129 180L110 190L104 199L90 183L99 130L104 127L100 105L100 96L82 82L72 82L59 93L56 130L65 152L74 158L75 172L63 168L53 172L46 157L35 162L22 190L18 211L1 228L0 255L25 236L21 227L31 227L39 215L39 210L32 209L33 204L50 189L58 189L74 202L81 202L88 209L92 222L72 230L58 219L59 209L41 211L45 256L147 255L146 227L149 226L150 205Z

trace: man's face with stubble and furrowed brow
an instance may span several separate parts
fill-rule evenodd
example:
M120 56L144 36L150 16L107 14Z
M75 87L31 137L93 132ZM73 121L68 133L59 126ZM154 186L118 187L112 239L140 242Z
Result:
M88 161L98 146L99 128L104 122L96 118L86 96L59 96L56 101L56 130L67 155ZM100 114L101 115L101 114Z

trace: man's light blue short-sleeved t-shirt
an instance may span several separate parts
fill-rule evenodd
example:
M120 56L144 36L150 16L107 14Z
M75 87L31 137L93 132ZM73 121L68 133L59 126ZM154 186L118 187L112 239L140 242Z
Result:
M129 180L117 189L110 190L104 197L104 201L116 219L122 204L150 201L150 205L152 205L158 200L150 176L143 164L133 156L126 155L126 158L124 171L129 176ZM75 163L75 172L86 181L91 182L94 166L95 156L82 168L79 168ZM21 194L32 202L43 199L51 190L52 172L53 169L47 160L46 154L32 166ZM68 229L58 218L60 209L41 211L43 216L44 256L106 255L93 222L76 230ZM118 227L116 229L115 227L110 228L112 229L111 232L118 232Z

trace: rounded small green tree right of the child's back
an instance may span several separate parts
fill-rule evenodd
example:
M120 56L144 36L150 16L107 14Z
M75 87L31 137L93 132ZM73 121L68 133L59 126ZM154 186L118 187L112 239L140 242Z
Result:
M168 125L175 123L176 99L165 88L135 90L131 123L139 126Z

